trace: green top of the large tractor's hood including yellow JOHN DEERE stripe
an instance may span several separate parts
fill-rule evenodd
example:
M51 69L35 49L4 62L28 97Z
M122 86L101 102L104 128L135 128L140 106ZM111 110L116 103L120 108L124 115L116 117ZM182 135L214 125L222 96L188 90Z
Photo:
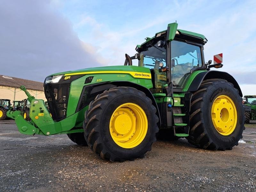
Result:
M73 76L73 75L87 75L87 74L106 74L106 73L128 73L128 74L135 74L135 72L143 73L142 75L145 75L145 77L151 78L150 70L149 68L144 67L138 67L138 66L124 66L124 65L118 65L118 66L107 66L107 67L95 67L95 68L85 68L85 69L79 69L79 70L73 70L73 71L66 71L61 73L55 73L48 77L52 76Z

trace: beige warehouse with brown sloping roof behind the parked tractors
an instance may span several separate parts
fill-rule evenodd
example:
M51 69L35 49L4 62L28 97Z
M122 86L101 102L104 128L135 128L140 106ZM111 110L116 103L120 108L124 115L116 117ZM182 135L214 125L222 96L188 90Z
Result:
M20 90L21 85L25 85L28 92L36 99L43 99L46 101L42 82L20 79L5 75L0 75L0 99L9 99L11 102L13 100L26 99L27 95L24 91Z

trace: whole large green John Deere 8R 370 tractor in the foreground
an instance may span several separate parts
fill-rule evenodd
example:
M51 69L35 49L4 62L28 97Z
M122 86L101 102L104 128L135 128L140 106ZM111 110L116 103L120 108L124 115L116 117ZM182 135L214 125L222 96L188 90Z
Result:
M125 54L124 66L56 73L44 81L44 105L26 91L30 121L9 113L23 134L68 134L110 161L143 157L156 133L186 138L192 145L232 149L244 130L242 92L226 72L205 64L207 39L171 23L136 53Z

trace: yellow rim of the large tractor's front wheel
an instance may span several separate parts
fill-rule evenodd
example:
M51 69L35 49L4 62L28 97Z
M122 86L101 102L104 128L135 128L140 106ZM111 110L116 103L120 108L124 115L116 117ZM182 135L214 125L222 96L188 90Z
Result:
M134 148L145 138L148 119L137 104L124 103L111 116L109 131L112 139L122 148Z

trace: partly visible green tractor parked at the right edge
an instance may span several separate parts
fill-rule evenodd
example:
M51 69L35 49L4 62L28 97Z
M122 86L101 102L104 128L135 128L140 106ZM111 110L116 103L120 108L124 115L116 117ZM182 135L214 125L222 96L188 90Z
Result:
M244 116L245 123L250 123L251 121L256 121L256 95L245 95L244 102Z

